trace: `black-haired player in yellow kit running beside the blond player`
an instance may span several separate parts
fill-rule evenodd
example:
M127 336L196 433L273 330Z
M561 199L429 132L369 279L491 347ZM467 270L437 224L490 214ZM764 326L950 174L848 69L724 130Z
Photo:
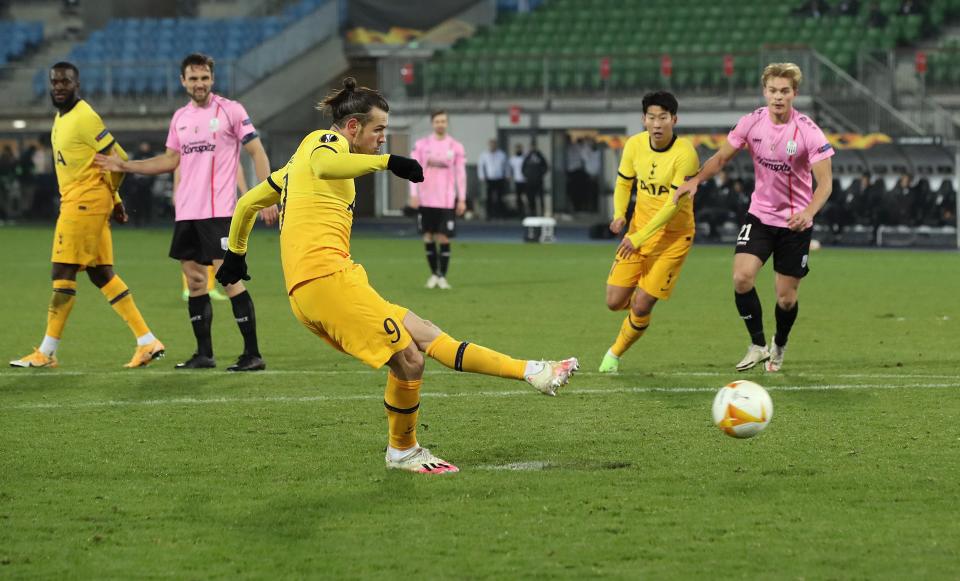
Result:
M623 148L610 222L614 234L626 225L634 183L637 203L607 277L607 308L629 311L603 356L601 373L619 371L620 358L650 325L654 305L673 293L693 246L693 204L689 200L677 204L671 194L697 173L700 162L693 145L673 132L677 109L677 98L666 91L644 95L646 131L632 136Z

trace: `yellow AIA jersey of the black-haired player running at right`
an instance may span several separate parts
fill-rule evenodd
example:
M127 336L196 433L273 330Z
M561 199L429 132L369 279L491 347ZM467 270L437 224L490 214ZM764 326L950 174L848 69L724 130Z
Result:
M630 185L636 180L637 203L628 232L632 234L643 228L670 199L673 191L696 175L699 168L697 151L687 139L675 135L666 148L657 150L650 144L650 134L646 131L632 136L627 140L620 159L620 179L614 192L614 218L626 215ZM664 231L692 232L694 228L693 203L684 196L679 211L664 226Z

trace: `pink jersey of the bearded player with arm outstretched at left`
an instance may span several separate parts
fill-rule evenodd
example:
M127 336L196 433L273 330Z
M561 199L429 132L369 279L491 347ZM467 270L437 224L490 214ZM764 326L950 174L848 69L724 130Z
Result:
M167 133L167 148L180 154L177 221L233 216L240 147L257 137L243 105L219 95L177 109Z

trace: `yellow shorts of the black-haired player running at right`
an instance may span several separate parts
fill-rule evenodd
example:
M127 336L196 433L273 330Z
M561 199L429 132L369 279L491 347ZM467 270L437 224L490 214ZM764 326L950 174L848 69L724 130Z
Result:
M640 287L658 299L668 299L692 246L692 233L660 234L648 240L640 247L640 252L630 258L615 258L607 284Z

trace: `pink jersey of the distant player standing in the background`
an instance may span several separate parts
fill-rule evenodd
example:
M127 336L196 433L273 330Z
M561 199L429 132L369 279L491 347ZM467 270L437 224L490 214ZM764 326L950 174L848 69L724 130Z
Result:
M410 192L426 208L453 208L467 197L467 159L459 141L429 135L413 146L413 159L423 166L423 182L411 183Z

